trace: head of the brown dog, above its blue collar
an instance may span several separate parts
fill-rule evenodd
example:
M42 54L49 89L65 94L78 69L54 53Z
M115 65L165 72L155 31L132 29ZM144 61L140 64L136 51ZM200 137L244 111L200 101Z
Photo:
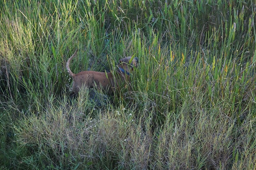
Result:
M119 60L118 67L122 73L130 75L130 73L133 70L133 67L138 66L138 62L139 62L139 58L137 58L137 57L134 57L134 58L125 57L125 58L122 58Z

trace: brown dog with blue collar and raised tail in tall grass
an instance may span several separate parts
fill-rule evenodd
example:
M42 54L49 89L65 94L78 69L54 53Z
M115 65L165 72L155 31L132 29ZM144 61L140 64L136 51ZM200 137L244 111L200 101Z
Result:
M130 72L133 67L137 67L139 59L132 57L125 57L119 60L117 73L119 76L114 77L112 73L82 71L77 74L72 73L69 68L69 63L72 58L76 56L76 52L68 59L67 70L69 75L73 78L73 91L78 94L82 87L96 88L105 91L108 94L113 94L117 81L129 81Z

